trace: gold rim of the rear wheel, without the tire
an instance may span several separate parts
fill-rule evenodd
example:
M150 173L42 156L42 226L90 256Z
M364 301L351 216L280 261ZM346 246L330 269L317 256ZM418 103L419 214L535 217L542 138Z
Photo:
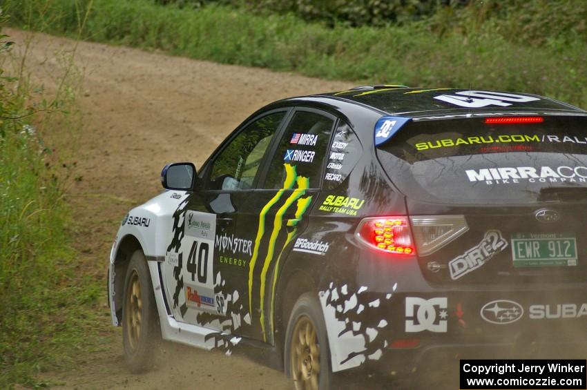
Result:
M320 378L320 344L316 328L302 315L291 335L290 370L297 390L318 390Z

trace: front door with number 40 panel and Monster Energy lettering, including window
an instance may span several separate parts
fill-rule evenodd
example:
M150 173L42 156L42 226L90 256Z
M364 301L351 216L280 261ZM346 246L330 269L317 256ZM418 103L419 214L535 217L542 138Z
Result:
M247 297L247 267L254 237L235 229L258 182L287 110L246 124L215 153L175 213L174 239L162 274L173 317L210 329L239 333Z

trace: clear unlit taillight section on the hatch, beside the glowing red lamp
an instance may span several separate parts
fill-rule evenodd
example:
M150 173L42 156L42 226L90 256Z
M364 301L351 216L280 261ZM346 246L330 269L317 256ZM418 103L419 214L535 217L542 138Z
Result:
M469 230L464 215L416 215L410 217L418 255L438 251Z

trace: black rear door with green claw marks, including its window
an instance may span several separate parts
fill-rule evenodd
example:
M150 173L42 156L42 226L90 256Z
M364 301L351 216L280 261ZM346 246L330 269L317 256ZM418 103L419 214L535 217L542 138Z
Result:
M247 285L240 294L251 313L244 329L251 338L271 342L276 273L316 202L335 123L329 113L296 108L271 150L260 188L238 215L237 231L253 240L243 273Z

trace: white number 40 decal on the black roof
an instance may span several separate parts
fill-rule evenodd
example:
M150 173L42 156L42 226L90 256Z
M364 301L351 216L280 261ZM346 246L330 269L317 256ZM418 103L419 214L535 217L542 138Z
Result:
M505 92L490 92L485 90L461 90L454 92L455 95L440 95L434 99L446 101L456 106L467 108L479 108L485 106L511 106L512 103L526 103L528 101L540 100L537 97L514 95ZM512 103L507 103L508 101Z

